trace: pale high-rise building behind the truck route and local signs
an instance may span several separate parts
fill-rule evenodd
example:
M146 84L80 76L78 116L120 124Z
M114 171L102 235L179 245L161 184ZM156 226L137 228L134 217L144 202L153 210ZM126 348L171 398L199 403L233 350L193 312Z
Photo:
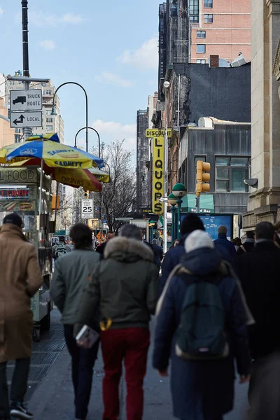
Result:
M31 82L30 88L41 89L43 97L43 127L35 127L32 129L32 134L48 134L48 133L57 133L61 143L64 143L64 122L62 116L60 115L60 106L59 106L59 97L56 97L56 116L52 116L52 98L55 93L55 87L52 85L52 82L48 83L36 83ZM24 89L24 85L20 80L10 80L6 82L6 104L10 108L10 90L20 90ZM21 130L16 129L15 133L15 143L20 141Z

